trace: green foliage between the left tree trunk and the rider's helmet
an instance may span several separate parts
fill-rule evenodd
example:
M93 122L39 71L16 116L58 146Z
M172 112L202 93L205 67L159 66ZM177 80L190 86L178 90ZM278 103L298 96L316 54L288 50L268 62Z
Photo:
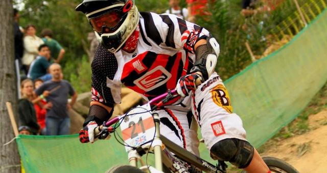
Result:
M22 0L25 8L20 12L21 26L34 24L37 28L37 36L43 28L51 28L56 39L66 50L64 58L60 63L63 69L69 64L69 69L64 70L65 79L69 74L76 74L82 56L88 50L87 33L91 31L85 16L75 11L80 0L47 0L33 1ZM88 68L89 70L89 68Z

